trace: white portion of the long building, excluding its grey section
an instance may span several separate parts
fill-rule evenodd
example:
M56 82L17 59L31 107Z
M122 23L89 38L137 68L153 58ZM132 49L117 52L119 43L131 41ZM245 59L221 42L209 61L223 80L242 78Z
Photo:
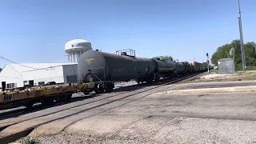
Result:
M6 84L15 83L15 87L22 87L24 84L27 85L30 83L30 80L34 81L31 81L34 85L38 85L38 82L64 82L62 64L38 63L25 65L30 65L32 68L7 64L0 73L0 87L2 87L2 82L6 82ZM34 67L37 69L34 69Z

